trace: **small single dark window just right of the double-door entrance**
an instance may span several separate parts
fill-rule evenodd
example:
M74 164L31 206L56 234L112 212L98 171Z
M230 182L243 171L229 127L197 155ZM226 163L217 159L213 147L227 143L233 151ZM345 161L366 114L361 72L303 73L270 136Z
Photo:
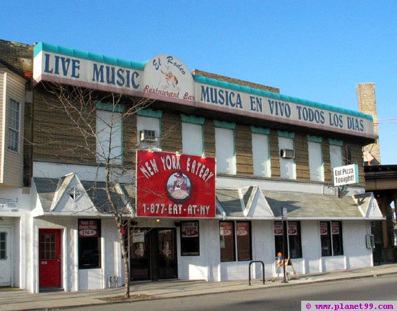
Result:
M200 255L199 222L181 222L181 256Z

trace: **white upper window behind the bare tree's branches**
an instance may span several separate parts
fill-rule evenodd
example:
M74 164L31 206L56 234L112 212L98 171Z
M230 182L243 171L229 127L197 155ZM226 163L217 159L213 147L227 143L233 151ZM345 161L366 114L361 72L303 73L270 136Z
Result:
M123 162L123 106L96 104L96 161Z

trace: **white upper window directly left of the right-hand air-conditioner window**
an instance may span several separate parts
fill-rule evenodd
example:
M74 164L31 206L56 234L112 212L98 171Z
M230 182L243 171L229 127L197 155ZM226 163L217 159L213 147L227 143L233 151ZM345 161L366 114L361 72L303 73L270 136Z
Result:
M269 153L269 129L251 127L252 158L254 160L254 175L271 177Z

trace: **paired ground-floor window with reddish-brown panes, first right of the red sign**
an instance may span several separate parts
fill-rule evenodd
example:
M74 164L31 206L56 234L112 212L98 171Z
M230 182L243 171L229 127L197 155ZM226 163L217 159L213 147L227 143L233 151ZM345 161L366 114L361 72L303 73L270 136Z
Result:
M252 260L251 222L219 222L219 233L221 261Z

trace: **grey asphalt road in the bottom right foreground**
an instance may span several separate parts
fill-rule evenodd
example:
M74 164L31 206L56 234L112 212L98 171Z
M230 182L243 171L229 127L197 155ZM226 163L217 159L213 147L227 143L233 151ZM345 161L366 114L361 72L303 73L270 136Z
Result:
M245 290L177 299L153 299L96 305L75 310L301 310L302 300L397 301L397 277L367 277L323 283L299 284L284 288ZM395 306L397 310L397 305Z

